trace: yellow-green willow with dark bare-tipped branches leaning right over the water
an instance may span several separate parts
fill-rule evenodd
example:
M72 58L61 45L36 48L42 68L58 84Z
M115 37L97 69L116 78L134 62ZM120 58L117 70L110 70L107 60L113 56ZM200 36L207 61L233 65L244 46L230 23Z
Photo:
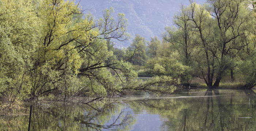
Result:
M83 19L78 5L64 0L42 0L38 12L43 34L38 40L34 72L31 73L34 82L31 98L61 90L65 101L68 96L82 90L86 83L85 87L92 88L84 91L104 97L120 90L120 87L113 86L119 75L112 75L106 68L114 71L122 68L125 75L135 75L129 75L132 71L125 70L130 66L123 65L125 61L106 63L113 52L108 49L105 39L124 41L128 38L125 33L127 20L123 14L119 13L117 19L113 19L113 8L110 8L99 20L94 20L91 15ZM81 85L78 79L84 84Z

